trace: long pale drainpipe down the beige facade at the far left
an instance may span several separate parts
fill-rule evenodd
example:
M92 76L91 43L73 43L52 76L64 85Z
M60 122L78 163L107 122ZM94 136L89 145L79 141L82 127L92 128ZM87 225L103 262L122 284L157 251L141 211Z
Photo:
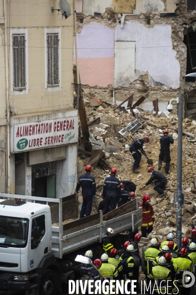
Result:
M5 82L6 82L6 111L7 111L7 194L10 193L10 135L9 135L9 78L8 78L8 47L7 47L7 11L6 0L3 0L4 9L4 46L5 46Z

